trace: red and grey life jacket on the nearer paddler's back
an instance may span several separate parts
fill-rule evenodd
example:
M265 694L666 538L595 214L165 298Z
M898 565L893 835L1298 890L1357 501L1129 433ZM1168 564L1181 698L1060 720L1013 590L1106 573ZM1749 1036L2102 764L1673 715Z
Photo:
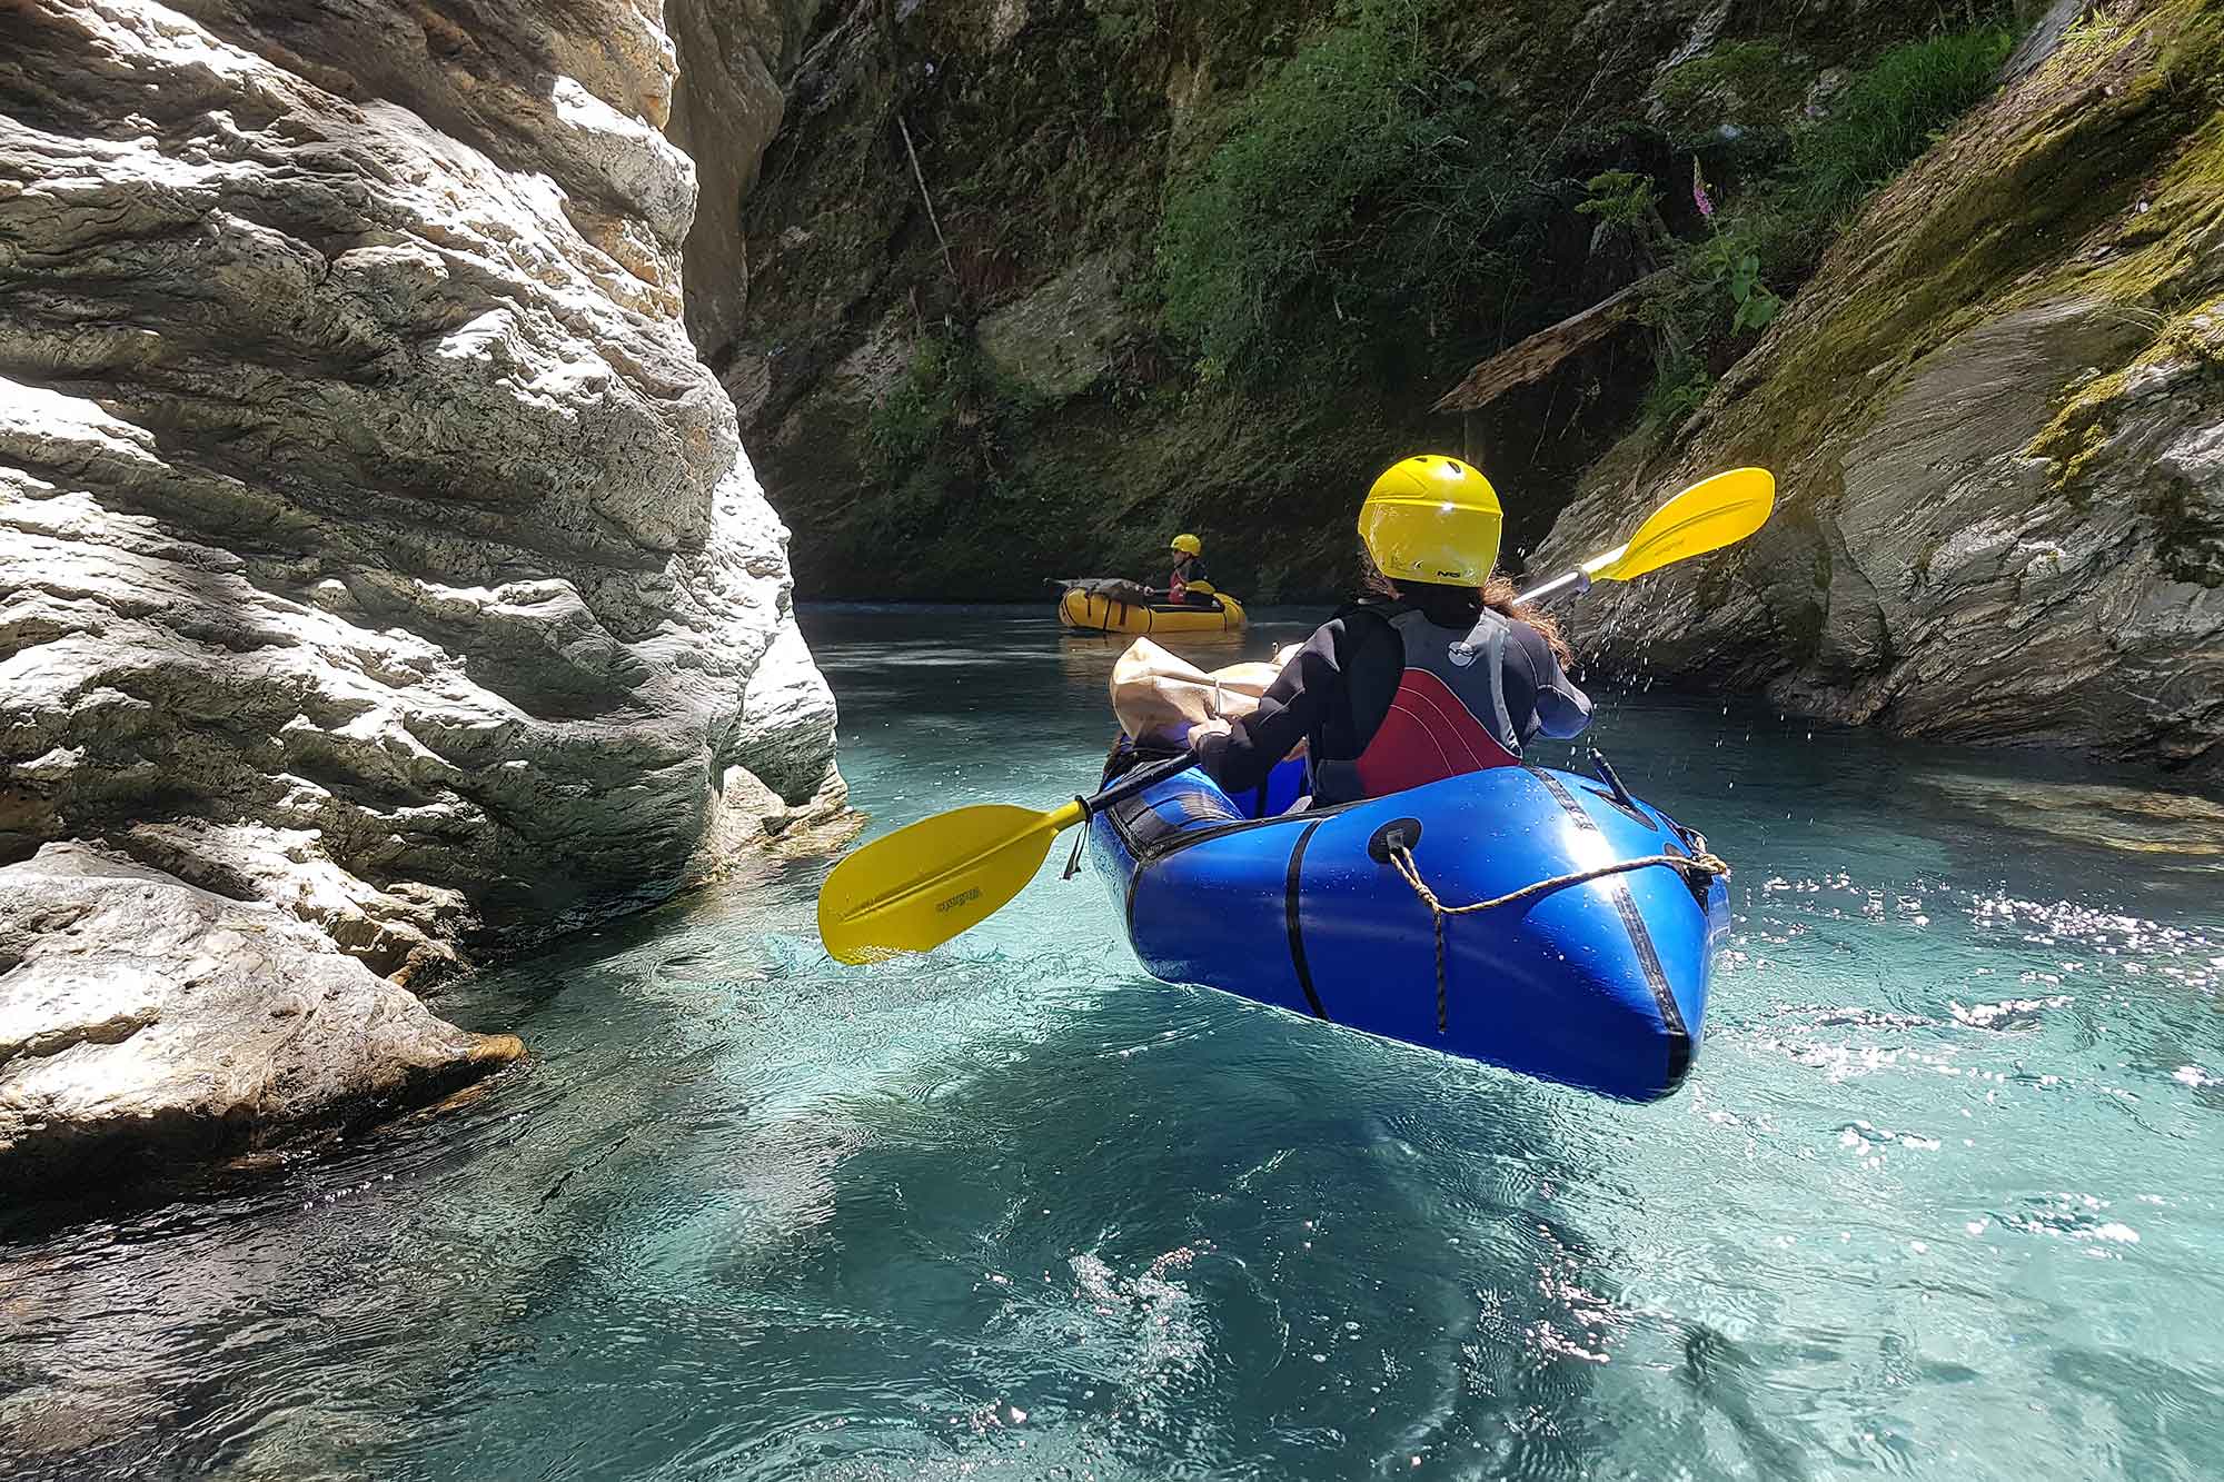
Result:
M1519 765L1521 732L1506 712L1506 619L1486 607L1468 634L1437 628L1419 612L1401 612L1390 628L1406 648L1406 674L1390 710L1357 761L1317 765L1314 794L1337 801L1383 797L1463 772Z

